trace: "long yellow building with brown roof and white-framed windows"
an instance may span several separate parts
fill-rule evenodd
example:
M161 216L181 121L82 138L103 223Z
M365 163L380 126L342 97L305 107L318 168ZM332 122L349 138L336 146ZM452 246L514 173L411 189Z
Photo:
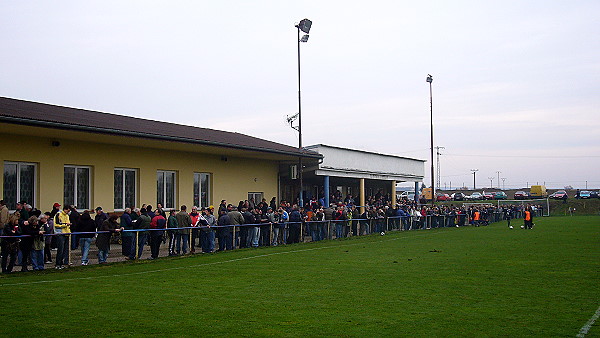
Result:
M0 98L0 182L9 209L25 200L121 211L142 203L279 200L280 167L322 155L239 134Z

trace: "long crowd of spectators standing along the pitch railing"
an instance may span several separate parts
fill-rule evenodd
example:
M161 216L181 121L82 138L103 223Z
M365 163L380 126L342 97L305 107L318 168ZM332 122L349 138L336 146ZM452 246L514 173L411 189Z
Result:
M179 211L165 210L160 204L156 208L142 205L110 215L102 207L80 213L73 206L59 203L42 213L26 201L9 213L0 201L2 272L12 272L15 265L22 271L28 271L29 266L43 270L52 263L56 269L63 269L73 264L71 252L75 250L81 251L81 265L88 265L93 243L98 264L105 264L115 243L120 243L120 254L125 259L142 258L146 245L150 247L147 259L156 259L163 244L168 246L167 255L178 256L195 253L196 249L212 253L390 230L482 226L500 220L507 220L511 227L510 220L517 218L524 218L525 228L531 228L533 216L541 212L540 206L530 205L432 206L406 199L392 205L390 196L382 193L368 196L365 206L358 206L353 196L342 198L337 192L330 200L328 206L324 198L309 199L304 206L286 201L277 204L275 198L270 202L240 201L237 206L222 200L216 214L213 206L194 206L188 213L185 205Z

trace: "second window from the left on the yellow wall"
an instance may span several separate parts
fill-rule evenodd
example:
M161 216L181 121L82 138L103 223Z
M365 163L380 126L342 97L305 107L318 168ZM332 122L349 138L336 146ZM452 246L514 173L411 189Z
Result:
M64 170L63 204L77 209L91 209L90 167L66 165Z

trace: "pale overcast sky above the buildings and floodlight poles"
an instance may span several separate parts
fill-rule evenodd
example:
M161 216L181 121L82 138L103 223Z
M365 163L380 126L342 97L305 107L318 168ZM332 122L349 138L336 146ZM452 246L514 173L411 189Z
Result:
M2 1L0 96L600 188L600 1ZM426 184L429 185L429 162Z

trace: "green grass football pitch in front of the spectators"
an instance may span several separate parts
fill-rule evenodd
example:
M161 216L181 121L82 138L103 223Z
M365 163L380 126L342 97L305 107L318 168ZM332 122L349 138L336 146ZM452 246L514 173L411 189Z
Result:
M600 306L600 217L535 222L15 273L0 335L573 337Z

